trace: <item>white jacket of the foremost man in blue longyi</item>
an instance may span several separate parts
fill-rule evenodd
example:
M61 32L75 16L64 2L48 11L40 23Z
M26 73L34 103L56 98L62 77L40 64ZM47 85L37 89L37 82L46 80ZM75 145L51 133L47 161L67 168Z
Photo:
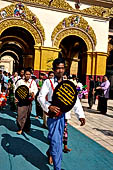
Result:
M54 88L58 85L58 82L56 78L51 79ZM46 101L46 96L48 95L48 101ZM48 107L51 105L49 101L52 101L52 96L53 96L53 89L51 87L50 80L47 79L44 81L43 86L40 90L40 93L38 95L38 101L40 105L42 106L43 110L48 113L49 109ZM77 115L78 118L85 118L84 111L82 108L82 105L80 103L79 98L77 97L76 103L73 107L75 114Z

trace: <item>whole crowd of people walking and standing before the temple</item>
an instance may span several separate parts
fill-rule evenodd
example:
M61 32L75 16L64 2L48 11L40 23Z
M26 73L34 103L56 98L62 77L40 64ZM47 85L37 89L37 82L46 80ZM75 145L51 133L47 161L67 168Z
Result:
M53 71L48 75L44 72L39 73L39 78L33 74L32 68L21 69L18 75L14 72L12 75L7 72L0 71L0 107L4 107L9 98L10 109L17 111L17 134L21 135L23 132L30 131L30 115L33 105L36 106L35 118L41 117L43 119L43 128L48 129L49 148L46 152L49 164L53 164L54 170L61 170L62 147L65 153L70 152L71 149L67 147L68 132L67 122L71 118L70 111L67 113L60 113L60 108L51 104L52 96L55 87L63 80L69 79L78 89L78 96L73 107L74 113L77 115L81 126L85 125L85 115L81 105L81 98L88 94L89 108L91 109L98 96L98 110L102 114L107 112L107 99L109 98L110 82L106 76L103 81L100 77L95 82L90 76L89 93L86 86L83 86L81 81L75 75L68 77L65 73L65 61L63 58L57 58L53 61ZM15 96L15 91L21 85L29 88L29 97L25 102L19 100ZM82 97L81 97L82 94ZM34 104L33 104L34 103ZM54 115L51 115L54 113Z

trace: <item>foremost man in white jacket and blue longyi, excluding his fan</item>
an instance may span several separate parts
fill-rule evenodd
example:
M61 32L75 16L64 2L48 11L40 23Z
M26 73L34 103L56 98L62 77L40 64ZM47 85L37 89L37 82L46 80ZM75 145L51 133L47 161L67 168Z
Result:
M51 101L55 87L63 80L63 74L65 72L65 61L63 58L57 58L53 61L53 70L55 77L51 80L45 80L39 93L38 101L46 113L50 111L57 114L60 112L60 108L51 105ZM47 95L48 101L46 101ZM77 117L81 122L81 126L83 126L85 124L85 115L78 97L74 105L74 112L77 114ZM47 151L49 163L53 160L54 170L61 170L65 113L59 117L48 117L47 125L49 130L48 139L50 142L50 146Z

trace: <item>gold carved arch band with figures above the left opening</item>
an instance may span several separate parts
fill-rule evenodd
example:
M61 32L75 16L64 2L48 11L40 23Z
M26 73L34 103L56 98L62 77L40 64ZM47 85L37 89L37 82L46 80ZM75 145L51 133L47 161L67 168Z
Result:
M11 24L12 25L16 24L17 26L26 27L27 30L34 30L35 33L33 34L37 34L38 31L43 41L45 40L45 32L39 19L24 4L22 3L11 4L1 9L0 14L1 14L0 15L1 30L4 29L4 26L8 27L8 24L9 26ZM7 22L5 22L6 19L10 20L7 20ZM37 31L33 28L36 28ZM37 35L35 35L35 37L36 36Z

